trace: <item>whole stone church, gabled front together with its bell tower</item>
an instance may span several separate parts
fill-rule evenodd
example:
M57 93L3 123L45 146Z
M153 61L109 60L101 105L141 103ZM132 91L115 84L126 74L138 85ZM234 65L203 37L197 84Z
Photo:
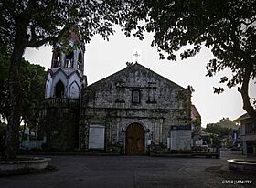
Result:
M191 149L188 89L135 63L87 86L76 27L48 69L39 132L44 148L127 155Z

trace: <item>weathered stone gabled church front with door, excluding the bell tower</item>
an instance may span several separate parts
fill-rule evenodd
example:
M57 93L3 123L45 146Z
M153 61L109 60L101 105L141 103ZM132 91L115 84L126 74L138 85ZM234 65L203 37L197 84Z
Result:
M82 89L81 150L189 151L190 123L188 90L138 63Z

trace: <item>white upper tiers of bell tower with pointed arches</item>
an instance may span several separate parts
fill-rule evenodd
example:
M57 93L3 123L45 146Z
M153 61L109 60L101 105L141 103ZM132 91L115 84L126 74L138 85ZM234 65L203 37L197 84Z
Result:
M79 99L81 87L87 85L86 76L83 75L84 52L79 27L71 26L67 38L53 47L46 99Z

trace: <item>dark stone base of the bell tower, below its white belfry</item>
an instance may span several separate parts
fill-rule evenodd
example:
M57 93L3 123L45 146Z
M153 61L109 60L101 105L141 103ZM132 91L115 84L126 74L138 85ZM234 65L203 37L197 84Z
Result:
M44 150L74 151L79 143L79 100L45 99L39 137L47 137Z

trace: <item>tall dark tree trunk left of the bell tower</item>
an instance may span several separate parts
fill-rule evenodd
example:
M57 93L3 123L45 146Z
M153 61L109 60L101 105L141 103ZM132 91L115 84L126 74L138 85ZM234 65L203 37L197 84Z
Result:
M27 47L27 25L28 21L20 22L16 26L15 47L11 56L9 68L8 89L10 113L7 117L8 125L5 138L5 151L2 156L2 159L4 160L15 159L19 145L19 125L22 107L22 90L19 72L22 56Z

